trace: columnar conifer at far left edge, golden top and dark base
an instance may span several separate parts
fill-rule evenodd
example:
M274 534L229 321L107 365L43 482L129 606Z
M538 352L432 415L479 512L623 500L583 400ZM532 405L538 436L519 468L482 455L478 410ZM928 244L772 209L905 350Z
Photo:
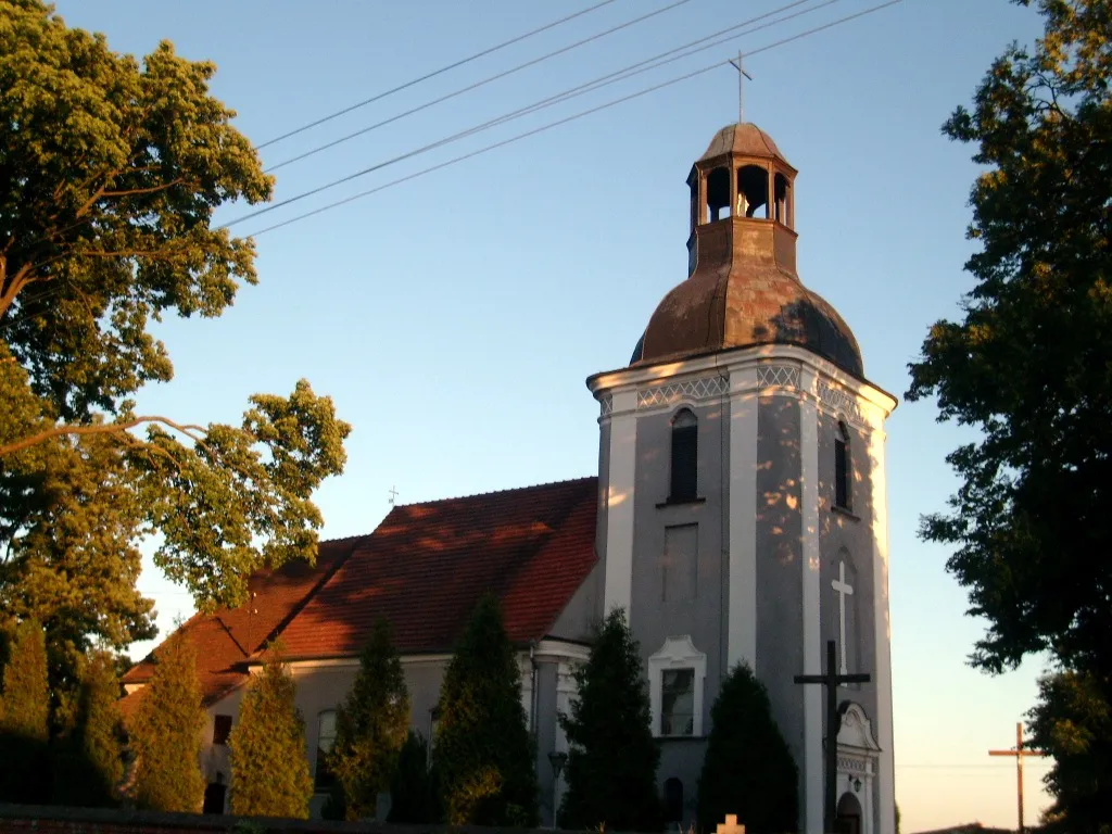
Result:
M33 619L16 626L0 696L0 802L50 800L47 651Z

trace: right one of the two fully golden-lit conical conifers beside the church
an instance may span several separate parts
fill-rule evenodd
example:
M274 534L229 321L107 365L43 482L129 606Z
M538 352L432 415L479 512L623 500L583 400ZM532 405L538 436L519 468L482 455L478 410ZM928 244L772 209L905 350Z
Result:
M272 646L262 673L251 679L228 739L231 813L309 817L312 777L296 696L297 684L284 666L281 647Z

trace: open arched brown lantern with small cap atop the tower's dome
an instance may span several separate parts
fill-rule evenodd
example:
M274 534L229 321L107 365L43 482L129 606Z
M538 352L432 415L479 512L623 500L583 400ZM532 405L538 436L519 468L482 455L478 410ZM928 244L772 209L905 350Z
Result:
M795 175L756 125L719 130L687 177L687 275L747 254L795 276Z

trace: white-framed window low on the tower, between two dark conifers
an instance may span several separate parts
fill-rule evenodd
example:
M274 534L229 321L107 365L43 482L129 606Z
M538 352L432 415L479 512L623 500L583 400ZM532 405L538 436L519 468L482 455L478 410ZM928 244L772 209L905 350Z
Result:
M706 654L695 648L691 636L664 641L648 658L648 681L653 735L702 736Z

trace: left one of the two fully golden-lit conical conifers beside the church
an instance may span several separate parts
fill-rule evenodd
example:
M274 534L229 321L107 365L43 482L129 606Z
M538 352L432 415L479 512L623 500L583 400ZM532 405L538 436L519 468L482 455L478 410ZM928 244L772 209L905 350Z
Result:
M135 798L141 808L197 813L205 798L200 770L205 711L197 655L176 632L155 653L155 673L128 732L136 754Z

